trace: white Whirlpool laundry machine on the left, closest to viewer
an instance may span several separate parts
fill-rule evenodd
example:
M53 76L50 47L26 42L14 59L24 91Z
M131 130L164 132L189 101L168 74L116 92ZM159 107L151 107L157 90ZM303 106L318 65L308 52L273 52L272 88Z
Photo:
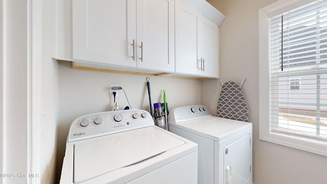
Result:
M197 159L145 110L93 113L69 128L60 183L197 183Z

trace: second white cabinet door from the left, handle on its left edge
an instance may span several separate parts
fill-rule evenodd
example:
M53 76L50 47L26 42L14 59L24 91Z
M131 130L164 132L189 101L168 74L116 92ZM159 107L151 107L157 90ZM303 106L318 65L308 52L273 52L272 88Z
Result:
M174 72L174 5L174 0L137 0L138 68Z

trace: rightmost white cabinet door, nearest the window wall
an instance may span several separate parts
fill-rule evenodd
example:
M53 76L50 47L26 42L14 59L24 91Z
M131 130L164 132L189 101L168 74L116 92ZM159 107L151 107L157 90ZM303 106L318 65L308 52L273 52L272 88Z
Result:
M200 63L202 76L219 77L218 34L217 24L202 16L199 35L199 56L202 58Z

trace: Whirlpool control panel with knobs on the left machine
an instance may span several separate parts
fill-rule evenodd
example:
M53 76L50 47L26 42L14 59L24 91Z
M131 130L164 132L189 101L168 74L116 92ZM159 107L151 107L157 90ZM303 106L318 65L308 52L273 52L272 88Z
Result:
M67 142L144 128L154 125L146 110L117 110L87 114L75 119L69 128Z

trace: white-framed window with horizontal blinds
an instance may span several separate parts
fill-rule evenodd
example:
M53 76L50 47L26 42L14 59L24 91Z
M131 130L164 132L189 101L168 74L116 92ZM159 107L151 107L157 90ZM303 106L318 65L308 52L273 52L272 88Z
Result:
M259 34L260 139L327 156L327 0L260 9Z

